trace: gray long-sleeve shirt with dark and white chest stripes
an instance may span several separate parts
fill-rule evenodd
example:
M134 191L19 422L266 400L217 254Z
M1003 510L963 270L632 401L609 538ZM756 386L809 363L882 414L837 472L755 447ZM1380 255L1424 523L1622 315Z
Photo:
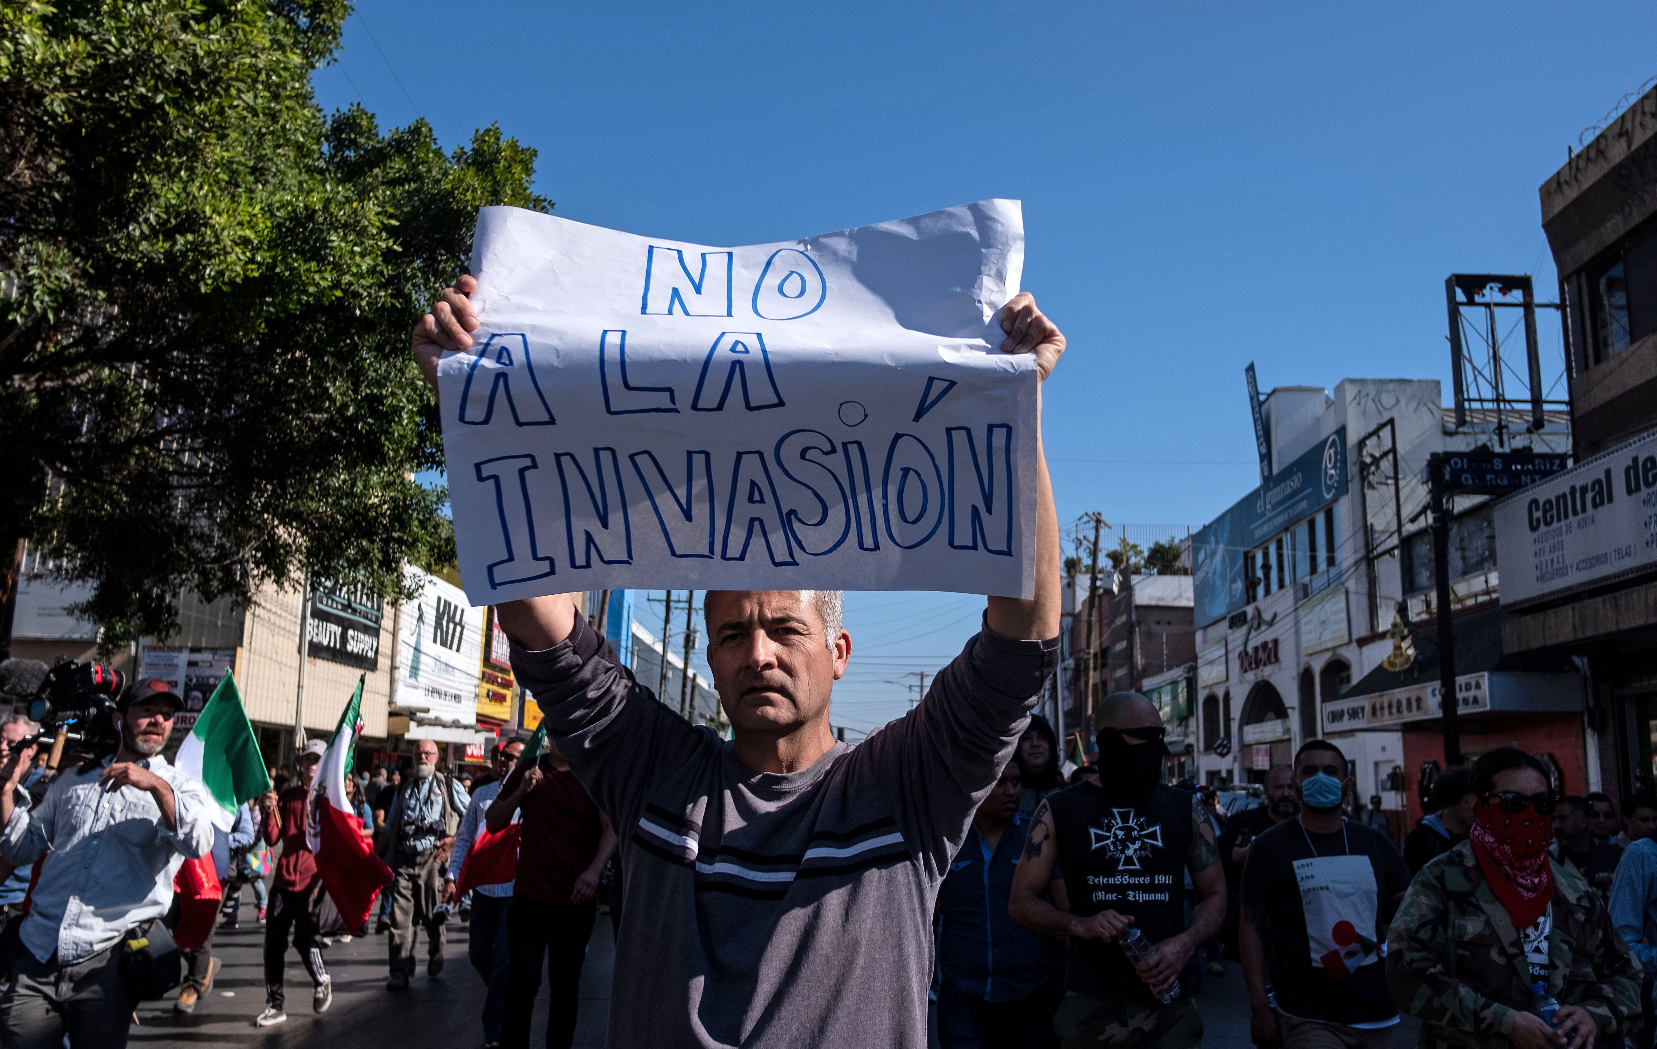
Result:
M621 839L610 1044L925 1046L938 883L1056 660L1057 640L984 630L862 746L767 774L656 703L580 616L563 645L514 646Z

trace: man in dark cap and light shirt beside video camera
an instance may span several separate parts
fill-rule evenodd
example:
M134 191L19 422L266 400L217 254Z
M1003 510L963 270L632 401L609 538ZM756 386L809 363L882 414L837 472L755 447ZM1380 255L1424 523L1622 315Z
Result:
M114 704L116 752L65 767L33 810L18 784L35 747L0 766L0 858L46 855L0 993L0 1049L56 1049L65 1034L75 1049L126 1046L119 943L167 911L179 867L214 842L207 789L161 757L181 706L166 681L133 684Z

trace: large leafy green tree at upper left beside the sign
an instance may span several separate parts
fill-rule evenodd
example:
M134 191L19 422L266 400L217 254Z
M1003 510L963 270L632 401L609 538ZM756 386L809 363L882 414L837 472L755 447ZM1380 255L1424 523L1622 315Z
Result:
M186 588L391 597L404 557L452 560L408 330L479 205L552 204L497 128L446 154L424 121L323 114L348 13L0 7L0 550L91 582L106 645L171 633Z

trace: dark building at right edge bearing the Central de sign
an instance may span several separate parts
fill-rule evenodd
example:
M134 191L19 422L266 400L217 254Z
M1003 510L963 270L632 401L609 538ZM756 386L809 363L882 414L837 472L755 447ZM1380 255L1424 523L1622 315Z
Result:
M1495 507L1503 646L1586 671L1607 789L1657 781L1657 89L1539 191L1576 466Z

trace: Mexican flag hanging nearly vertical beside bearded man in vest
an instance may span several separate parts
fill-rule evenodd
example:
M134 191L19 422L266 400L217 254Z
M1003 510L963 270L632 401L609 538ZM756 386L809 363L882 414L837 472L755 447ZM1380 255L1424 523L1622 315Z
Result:
M363 674L366 678L368 674ZM316 853L316 873L340 910L345 928L358 933L368 923L374 897L391 882L391 868L363 839L363 820L345 799L345 777L351 774L356 737L363 734L363 678L340 714L340 724L321 756L312 786L305 820L305 845Z

